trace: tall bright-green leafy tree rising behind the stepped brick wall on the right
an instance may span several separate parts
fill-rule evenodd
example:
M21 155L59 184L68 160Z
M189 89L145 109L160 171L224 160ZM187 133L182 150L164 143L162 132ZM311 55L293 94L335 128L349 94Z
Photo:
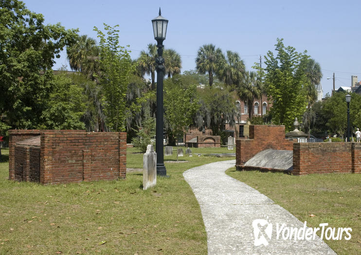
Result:
M271 115L274 124L283 124L286 131L292 129L295 118L301 119L307 106L307 76L305 73L309 56L295 48L285 47L283 39L277 38L276 56L268 51L265 56L265 73L259 64L256 68L264 75L264 87L272 102Z

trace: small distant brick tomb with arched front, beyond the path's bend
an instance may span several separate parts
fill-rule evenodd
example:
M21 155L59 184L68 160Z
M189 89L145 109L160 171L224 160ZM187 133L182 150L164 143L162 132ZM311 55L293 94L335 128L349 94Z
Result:
M185 147L209 148L220 147L220 136L210 136L202 132L191 132L184 135Z

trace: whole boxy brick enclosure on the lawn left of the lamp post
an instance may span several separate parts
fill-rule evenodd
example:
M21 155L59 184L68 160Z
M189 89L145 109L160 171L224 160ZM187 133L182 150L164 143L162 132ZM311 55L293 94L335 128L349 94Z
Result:
M126 178L126 133L9 130L9 179L42 184Z

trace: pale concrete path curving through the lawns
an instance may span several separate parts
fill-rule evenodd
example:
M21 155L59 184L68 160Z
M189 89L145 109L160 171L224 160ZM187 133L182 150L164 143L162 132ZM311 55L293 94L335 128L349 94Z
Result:
M297 228L303 228L304 223L257 190L225 174L225 170L234 166L235 160L227 160L183 173L200 205L208 254L336 254L317 236L315 240L284 240L281 232L276 239L276 223ZM260 229L257 237L265 238L268 245L254 245L252 223L256 219L272 223L271 238L267 224L257 225Z

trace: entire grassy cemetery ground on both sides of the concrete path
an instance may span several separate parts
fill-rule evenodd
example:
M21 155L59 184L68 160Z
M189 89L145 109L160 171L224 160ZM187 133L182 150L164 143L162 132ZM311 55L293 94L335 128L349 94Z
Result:
M142 169L143 153L127 149L127 168ZM207 254L199 204L183 171L234 157L227 148L192 148L193 157L165 156L170 178L142 189L142 172L126 180L43 186L8 181L8 150L0 163L0 254ZM233 150L235 152L235 150ZM167 163L172 161L173 163ZM227 173L269 196L314 227L352 227L349 241L326 241L338 254L361 251L361 175L235 171ZM314 215L314 216L312 216Z

